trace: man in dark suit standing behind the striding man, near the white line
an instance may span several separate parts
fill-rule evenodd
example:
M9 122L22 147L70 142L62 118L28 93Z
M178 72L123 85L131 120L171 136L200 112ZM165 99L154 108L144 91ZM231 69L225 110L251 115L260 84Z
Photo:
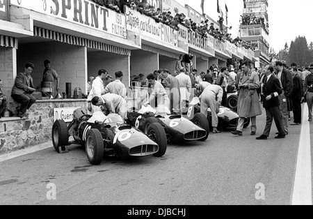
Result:
M301 77L297 73L297 68L291 68L291 74L293 75L294 88L292 89L292 109L294 111L294 123L291 126L298 126L301 124L301 98L303 97L303 82Z

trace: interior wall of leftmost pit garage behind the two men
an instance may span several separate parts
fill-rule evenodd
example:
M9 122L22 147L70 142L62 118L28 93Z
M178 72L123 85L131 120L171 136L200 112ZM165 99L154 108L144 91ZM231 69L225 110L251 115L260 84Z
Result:
M82 91L86 89L85 77L85 47L68 45L59 42L27 43L20 44L17 50L17 72L24 72L27 62L35 65L32 77L35 86L42 81L45 70L43 62L45 59L51 61L51 68L56 70L61 78L60 92L66 91L65 84L72 83L72 94L75 87Z

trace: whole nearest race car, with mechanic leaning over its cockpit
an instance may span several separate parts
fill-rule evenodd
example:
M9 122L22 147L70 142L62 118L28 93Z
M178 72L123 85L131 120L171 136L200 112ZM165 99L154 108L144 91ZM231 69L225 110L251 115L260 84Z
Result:
M147 135L125 123L120 115L95 112L93 116L86 110L74 111L74 119L67 127L63 120L58 120L52 128L52 142L58 153L69 145L69 137L74 137L74 144L85 146L88 160L92 165L99 165L104 155L126 157L161 157L166 153L166 134L159 123L152 123Z

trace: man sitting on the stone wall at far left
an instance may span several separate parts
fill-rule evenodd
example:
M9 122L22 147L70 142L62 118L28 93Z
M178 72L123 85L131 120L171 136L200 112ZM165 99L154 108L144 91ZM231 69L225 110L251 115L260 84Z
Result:
M33 77L31 77L34 68L33 63L26 63L24 73L19 73L15 79L11 96L17 103L21 103L17 112L19 118L23 118L26 110L29 110L36 102L36 98L31 94L36 90L33 86Z

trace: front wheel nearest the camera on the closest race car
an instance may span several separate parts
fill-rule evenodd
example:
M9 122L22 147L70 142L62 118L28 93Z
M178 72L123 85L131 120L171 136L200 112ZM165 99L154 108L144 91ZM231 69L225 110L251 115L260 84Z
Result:
M104 156L103 138L99 130L91 129L86 137L86 153L90 164L99 165Z

